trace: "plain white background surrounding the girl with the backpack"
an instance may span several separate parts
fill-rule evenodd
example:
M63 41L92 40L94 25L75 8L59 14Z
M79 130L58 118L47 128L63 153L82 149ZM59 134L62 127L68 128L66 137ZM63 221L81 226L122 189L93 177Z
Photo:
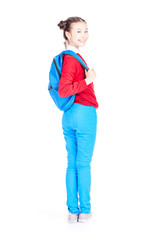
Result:
M160 239L159 1L1 1L1 239ZM66 150L47 87L57 27L84 18L97 72L92 212L66 221Z

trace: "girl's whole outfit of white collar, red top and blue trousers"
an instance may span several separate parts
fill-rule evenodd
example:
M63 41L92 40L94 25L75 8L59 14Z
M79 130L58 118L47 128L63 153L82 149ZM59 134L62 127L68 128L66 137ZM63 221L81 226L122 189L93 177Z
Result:
M69 47L69 50L77 53L75 48ZM73 94L75 94L74 104L63 113L62 117L68 152L67 206L72 214L79 214L79 211L88 214L91 211L90 163L96 140L98 103L93 83L86 84L84 68L73 56L64 55L59 95L67 97Z

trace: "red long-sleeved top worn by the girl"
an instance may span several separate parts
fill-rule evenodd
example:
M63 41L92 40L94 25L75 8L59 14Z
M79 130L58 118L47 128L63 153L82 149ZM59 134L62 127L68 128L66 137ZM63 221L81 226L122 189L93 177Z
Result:
M82 60L84 61L83 58ZM85 71L79 61L73 56L64 55L58 90L60 97L68 97L75 94L75 103L98 108L94 85L93 83L87 85L84 78Z

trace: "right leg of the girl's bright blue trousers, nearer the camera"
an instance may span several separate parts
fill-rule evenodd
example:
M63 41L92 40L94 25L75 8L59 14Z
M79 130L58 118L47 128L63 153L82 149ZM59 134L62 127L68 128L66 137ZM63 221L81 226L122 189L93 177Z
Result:
M77 111L77 173L80 212L90 213L91 160L96 140L97 113L94 107L80 105Z

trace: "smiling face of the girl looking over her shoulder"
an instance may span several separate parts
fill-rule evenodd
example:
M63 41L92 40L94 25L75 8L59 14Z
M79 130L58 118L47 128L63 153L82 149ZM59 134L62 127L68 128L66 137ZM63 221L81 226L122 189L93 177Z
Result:
M88 40L88 28L85 22L72 23L70 32L66 32L68 44L76 47L84 47Z

